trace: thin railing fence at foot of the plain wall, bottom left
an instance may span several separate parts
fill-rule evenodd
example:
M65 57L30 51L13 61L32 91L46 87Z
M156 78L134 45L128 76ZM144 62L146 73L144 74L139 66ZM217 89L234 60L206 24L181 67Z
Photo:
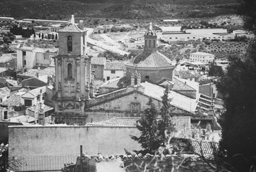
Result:
M57 156L29 156L9 159L14 171L61 171L64 164L74 162L78 154Z

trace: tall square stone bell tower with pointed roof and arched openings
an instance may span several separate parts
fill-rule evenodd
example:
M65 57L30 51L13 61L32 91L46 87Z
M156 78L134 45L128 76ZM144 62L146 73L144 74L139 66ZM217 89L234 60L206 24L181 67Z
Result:
M58 31L59 54L55 57L55 123L83 125L86 102L93 97L91 60L86 55L86 30L70 24Z

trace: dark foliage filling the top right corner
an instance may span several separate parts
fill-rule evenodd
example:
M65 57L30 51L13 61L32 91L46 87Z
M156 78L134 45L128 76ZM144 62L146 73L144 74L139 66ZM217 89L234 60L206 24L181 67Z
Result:
M243 16L244 29L248 29L256 34L256 2L255 0L239 0L238 14Z

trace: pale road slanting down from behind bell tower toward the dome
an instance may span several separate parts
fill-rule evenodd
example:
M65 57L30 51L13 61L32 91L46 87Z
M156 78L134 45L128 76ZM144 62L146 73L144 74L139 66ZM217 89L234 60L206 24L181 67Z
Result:
M129 52L125 52L124 50L122 49L118 49L116 46L109 46L107 44L104 44L102 42L99 42L97 40L94 40L94 39L91 39L90 37L88 37L88 35L92 34L93 33L93 29L92 28L86 28L87 30L87 42L89 44L93 44L97 47L100 47L102 49L105 49L105 50L108 50L110 52L114 52L114 53L117 53L117 54L121 54L121 55L124 55L124 54L129 54Z

